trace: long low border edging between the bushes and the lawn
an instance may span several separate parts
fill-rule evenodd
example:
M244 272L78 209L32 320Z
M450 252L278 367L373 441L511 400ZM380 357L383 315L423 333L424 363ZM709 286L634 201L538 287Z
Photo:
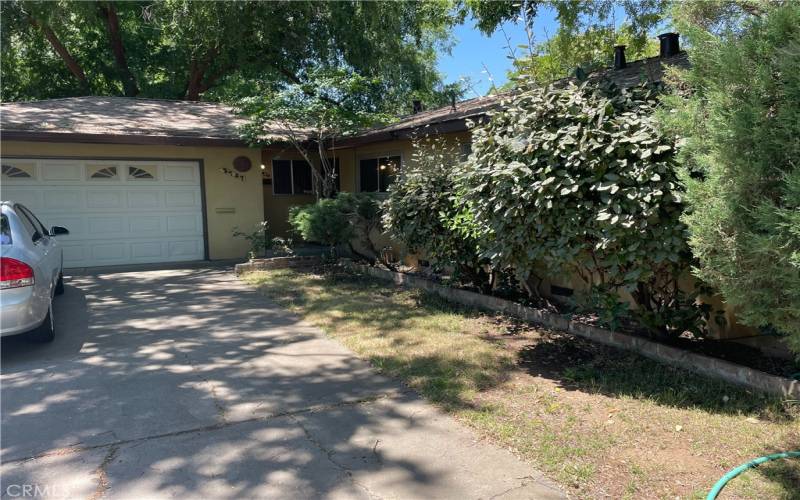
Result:
M361 272L376 278L392 281L395 284L408 288L421 288L452 302L508 314L525 321L539 323L548 328L564 330L594 342L634 351L650 359L701 375L722 379L759 391L800 398L800 381L798 380L790 380L788 378L770 375L760 370L731 363L730 361L659 344L658 342L653 342L652 340L642 337L634 337L633 335L579 323L564 316L523 306L522 304L510 300L467 290L450 288L418 276L396 273L355 263L347 263L345 266L351 271Z

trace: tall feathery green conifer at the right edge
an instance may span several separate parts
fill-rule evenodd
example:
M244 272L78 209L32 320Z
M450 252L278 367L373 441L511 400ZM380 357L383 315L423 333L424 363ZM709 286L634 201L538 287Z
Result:
M800 4L714 2L675 17L692 65L660 118L682 144L695 274L800 352Z

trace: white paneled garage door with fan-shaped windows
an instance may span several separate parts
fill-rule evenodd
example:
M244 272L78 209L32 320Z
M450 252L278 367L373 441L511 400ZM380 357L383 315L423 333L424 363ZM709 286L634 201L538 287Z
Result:
M0 196L69 229L65 267L204 256L197 162L3 158Z

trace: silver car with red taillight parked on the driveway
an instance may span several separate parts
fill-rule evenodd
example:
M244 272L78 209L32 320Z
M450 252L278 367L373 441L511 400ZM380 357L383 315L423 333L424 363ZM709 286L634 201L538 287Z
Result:
M69 231L48 230L19 203L0 202L0 336L55 337L53 297L64 293L60 234Z

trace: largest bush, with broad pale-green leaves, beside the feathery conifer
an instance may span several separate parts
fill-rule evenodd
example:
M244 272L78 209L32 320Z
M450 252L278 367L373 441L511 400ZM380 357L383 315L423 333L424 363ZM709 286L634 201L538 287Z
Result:
M674 314L689 252L657 95L602 82L522 89L474 131L459 192L484 254L524 283L537 269L574 272L593 292L629 291L654 331L681 332L695 322Z

